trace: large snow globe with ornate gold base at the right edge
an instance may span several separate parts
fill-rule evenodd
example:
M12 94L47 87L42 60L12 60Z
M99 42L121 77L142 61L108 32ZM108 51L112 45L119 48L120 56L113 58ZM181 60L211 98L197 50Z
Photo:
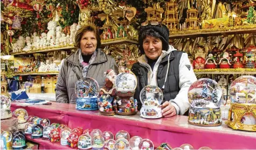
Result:
M227 126L235 130L256 131L256 77L240 76L230 85L231 106Z

